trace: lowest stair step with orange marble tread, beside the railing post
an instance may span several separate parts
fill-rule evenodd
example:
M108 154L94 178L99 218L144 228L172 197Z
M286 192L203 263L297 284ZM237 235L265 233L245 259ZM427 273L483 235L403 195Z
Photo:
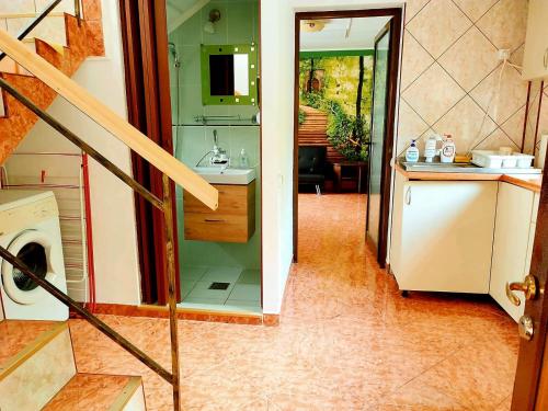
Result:
M43 411L145 410L140 377L77 374Z

